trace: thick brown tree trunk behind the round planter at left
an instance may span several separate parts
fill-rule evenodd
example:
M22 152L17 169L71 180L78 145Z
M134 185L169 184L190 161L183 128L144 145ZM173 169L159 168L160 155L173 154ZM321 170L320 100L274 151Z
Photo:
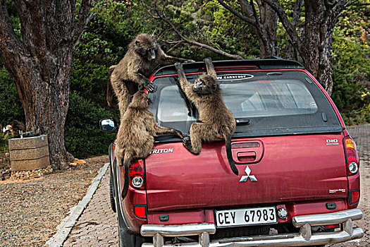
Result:
M85 30L91 0L15 0L23 39L16 35L5 0L0 0L0 57L13 76L27 131L47 134L54 169L68 168L64 146L73 49Z

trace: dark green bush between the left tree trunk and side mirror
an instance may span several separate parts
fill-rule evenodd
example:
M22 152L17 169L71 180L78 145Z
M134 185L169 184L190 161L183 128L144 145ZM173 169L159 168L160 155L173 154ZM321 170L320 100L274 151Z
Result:
M68 152L79 158L106 154L114 134L99 131L99 120L111 116L91 100L71 93L64 135Z

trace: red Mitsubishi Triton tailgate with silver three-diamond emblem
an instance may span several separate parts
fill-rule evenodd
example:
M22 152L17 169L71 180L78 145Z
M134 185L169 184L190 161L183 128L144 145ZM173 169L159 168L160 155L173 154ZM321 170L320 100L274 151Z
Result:
M259 143L257 145L256 143ZM183 143L159 143L145 160L148 210L269 204L347 196L343 134L233 139L192 155Z

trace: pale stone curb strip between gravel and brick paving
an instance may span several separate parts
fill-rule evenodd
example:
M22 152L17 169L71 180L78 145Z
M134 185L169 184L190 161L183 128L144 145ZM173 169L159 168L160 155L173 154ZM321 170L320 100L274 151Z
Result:
M72 209L73 212L71 212L69 216L67 216L61 221L61 224L59 224L58 227L56 227L56 229L58 229L56 234L54 234L54 236L52 236L51 239L49 239L44 246L49 247L63 246L63 243L64 241L66 241L68 234L70 233L70 230L75 225L80 215L82 215L82 212L87 207L87 204L90 203L92 195L94 195L95 191L97 191L100 180L104 176L104 174L106 174L108 166L109 163L106 163L104 164L104 167L101 167L101 169L99 170L99 174L92 180L92 184L87 190L85 197L82 198L82 200L80 200L80 203L78 203L78 205Z

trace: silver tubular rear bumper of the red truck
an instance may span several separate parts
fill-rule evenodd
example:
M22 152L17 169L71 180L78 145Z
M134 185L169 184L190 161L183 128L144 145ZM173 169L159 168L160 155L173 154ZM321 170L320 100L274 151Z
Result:
M328 243L340 243L364 236L364 231L353 227L352 221L361 219L359 209L344 210L320 215L302 215L293 217L295 227L300 227L297 234L276 234L264 236L245 236L230 239L215 239L210 241L209 234L216 232L214 223L159 225L144 224L141 227L142 236L153 236L153 243L143 243L145 247L216 247L216 246L310 246ZM312 233L311 227L340 224L340 231L326 233ZM164 244L164 236L199 236L197 243L184 243L179 245Z

